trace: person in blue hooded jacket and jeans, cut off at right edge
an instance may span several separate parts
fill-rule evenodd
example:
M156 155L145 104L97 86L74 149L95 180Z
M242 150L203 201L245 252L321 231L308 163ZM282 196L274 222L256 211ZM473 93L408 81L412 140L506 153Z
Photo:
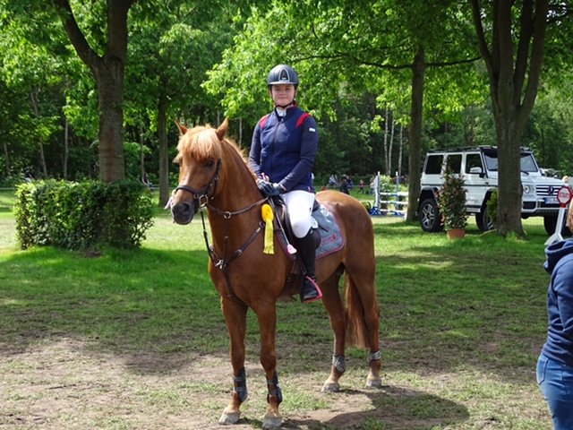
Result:
M573 202L572 202L573 203ZM569 204L573 226L573 204ZM537 383L555 430L573 429L573 240L549 245L544 268L551 275L547 293L549 328L537 360Z

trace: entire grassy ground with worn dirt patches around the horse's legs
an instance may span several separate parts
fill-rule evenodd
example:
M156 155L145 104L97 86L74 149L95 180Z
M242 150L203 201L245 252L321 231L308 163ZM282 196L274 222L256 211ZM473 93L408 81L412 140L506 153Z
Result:
M0 428L219 428L231 366L200 217L182 227L158 209L133 252L21 251L11 199L0 193ZM449 241L372 219L381 391L363 388L367 354L349 349L342 391L321 393L328 315L320 303L278 304L284 428L552 428L535 383L547 323L543 219L524 221L523 241L469 221L466 238ZM233 428L261 426L258 354L250 313L250 396Z

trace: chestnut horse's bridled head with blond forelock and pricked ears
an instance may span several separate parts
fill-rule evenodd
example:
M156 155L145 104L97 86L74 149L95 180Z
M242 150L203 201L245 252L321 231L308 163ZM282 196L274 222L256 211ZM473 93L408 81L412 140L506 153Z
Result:
M176 121L181 137L175 162L179 164L179 185L175 188L171 213L177 224L189 224L195 213L217 192L221 168L221 141L228 118L218 129L196 126L188 129Z

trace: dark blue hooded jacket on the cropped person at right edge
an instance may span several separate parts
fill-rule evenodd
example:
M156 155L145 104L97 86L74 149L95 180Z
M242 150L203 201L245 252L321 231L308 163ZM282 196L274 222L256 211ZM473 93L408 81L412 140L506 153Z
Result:
M547 293L549 329L543 354L573 366L573 240L549 245L544 268L552 275Z

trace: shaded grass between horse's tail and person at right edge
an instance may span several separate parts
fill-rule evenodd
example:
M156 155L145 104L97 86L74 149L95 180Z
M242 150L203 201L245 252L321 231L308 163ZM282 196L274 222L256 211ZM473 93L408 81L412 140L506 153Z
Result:
M480 369L509 383L535 380L546 334L546 235L492 234L411 246L377 258L386 371ZM377 228L389 237L404 227ZM487 251L484 251L487 250Z

